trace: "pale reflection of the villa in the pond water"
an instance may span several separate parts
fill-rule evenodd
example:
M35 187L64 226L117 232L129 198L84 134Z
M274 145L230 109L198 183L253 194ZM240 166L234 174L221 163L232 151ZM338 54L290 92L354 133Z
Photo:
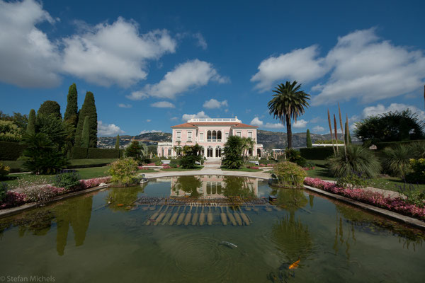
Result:
M181 177L171 177L171 191L170 197L184 197L190 196L192 192L183 190L179 183ZM225 176L222 175L201 175L193 176L191 178L197 178L200 183L196 186L196 191L199 194L199 198L225 198L224 191L227 187L225 182ZM249 189L255 196L258 196L259 192L259 180L256 178L245 178L244 188Z

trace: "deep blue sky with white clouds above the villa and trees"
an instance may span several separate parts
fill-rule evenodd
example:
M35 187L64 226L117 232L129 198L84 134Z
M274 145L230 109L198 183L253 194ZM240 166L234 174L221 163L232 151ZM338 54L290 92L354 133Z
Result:
M136 2L136 3L135 3ZM99 135L234 117L285 132L271 90L302 83L293 132L404 110L424 120L423 1L2 1L0 110L28 113L69 85L94 93Z

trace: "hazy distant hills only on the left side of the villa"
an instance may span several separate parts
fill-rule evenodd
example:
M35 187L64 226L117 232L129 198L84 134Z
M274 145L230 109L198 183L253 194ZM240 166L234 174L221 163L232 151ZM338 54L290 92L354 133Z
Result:
M164 132L152 132L145 134L138 134L137 136L120 136L120 147L121 149L125 148L130 144L131 140L137 139L138 141L142 141L147 145L158 144L158 142L162 141L171 141L171 134ZM113 149L115 148L115 137L98 137L98 147L103 149Z

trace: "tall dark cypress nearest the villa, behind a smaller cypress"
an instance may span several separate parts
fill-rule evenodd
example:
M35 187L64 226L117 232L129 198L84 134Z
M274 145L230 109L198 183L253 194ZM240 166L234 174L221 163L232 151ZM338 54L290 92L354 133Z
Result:
M87 91L83 106L78 113L77 130L75 131L75 144L81 144L81 134L83 132L84 119L89 117L89 147L96 147L97 144L97 112L94 103L94 95Z

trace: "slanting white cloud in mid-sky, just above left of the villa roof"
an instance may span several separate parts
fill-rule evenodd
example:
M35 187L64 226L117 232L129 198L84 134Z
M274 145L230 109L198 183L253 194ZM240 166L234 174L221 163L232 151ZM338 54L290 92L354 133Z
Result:
M212 64L194 59L177 65L164 79L155 84L147 84L141 91L131 93L128 98L140 100L149 96L157 98L176 98L180 93L207 85L210 81L226 83L227 78L220 76Z

